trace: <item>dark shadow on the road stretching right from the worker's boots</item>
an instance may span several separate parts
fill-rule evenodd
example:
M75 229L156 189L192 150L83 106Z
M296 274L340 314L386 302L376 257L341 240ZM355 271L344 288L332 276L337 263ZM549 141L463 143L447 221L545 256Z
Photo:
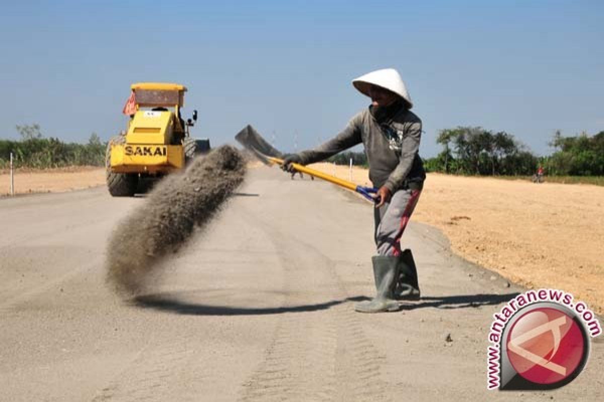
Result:
M454 295L442 297L422 297L419 303L402 304L401 310L415 310L426 307L436 309L466 309L468 307L495 306L501 303L507 303L516 296L518 292L503 295L498 294L477 294L477 295Z

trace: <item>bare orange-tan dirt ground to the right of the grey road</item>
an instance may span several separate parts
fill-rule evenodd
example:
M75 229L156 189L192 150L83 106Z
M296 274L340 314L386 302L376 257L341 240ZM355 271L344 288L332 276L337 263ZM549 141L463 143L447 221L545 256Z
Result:
M345 166L312 167L350 177ZM352 180L369 184L367 170ZM412 219L439 227L471 262L604 313L604 187L429 174Z

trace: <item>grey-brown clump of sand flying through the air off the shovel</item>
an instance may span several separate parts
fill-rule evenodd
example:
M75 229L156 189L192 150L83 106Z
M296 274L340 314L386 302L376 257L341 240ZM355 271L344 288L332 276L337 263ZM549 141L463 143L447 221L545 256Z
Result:
M232 146L194 160L182 174L164 178L109 239L107 279L124 297L144 292L161 262L204 227L243 182L245 162Z

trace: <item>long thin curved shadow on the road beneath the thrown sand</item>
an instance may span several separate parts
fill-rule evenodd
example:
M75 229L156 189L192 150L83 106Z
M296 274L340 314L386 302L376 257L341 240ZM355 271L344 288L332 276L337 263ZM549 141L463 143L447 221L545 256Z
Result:
M191 303L181 300L175 294L141 295L132 299L134 306L146 309L161 310L164 312L182 315L267 315L281 313L304 313L326 310L347 301L367 300L365 297L349 297L341 300L331 300L325 303L302 304L300 306L286 307L231 307L212 306L210 304Z

